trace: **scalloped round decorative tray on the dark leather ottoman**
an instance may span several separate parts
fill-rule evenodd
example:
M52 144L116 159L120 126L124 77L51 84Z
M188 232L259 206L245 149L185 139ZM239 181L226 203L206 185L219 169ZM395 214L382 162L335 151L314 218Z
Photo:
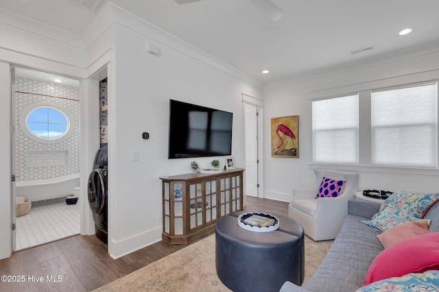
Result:
M238 225L246 230L267 233L279 228L279 219L263 212L242 213L238 217Z

